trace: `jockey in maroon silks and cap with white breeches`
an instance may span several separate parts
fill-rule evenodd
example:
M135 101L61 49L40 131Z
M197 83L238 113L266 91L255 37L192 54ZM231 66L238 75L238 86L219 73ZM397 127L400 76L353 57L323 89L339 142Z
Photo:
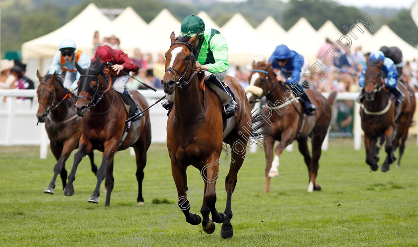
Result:
M132 95L125 89L126 83L129 81L129 72L138 71L138 65L128 58L123 51L118 49L112 49L108 45L99 46L96 49L95 57L92 59L92 63L100 58L102 62L107 62L106 67L109 69L109 74L112 77L112 88L120 93L122 99L130 106L135 108L134 116L141 111L138 105L132 98ZM124 71L125 73L122 73ZM131 117L129 116L129 117Z

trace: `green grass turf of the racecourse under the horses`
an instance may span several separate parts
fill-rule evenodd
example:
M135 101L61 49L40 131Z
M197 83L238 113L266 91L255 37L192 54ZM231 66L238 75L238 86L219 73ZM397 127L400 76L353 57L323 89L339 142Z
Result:
M95 154L99 165L101 153ZM380 157L382 163L383 150ZM148 151L143 206L136 204L134 157L126 150L115 156L110 207L104 207L103 192L99 204L87 202L96 185L87 157L79 165L71 197L62 194L59 178L54 195L42 193L52 179L51 153L41 160L37 146L1 147L0 159L0 246L418 245L414 138L407 143L401 168L392 165L387 173L371 172L364 149L355 151L351 140L331 139L319 163L317 182L322 190L312 193L307 192L308 171L297 144L293 152L282 154L280 176L272 179L271 192L264 193L264 151L258 148L247 155L238 174L232 197L234 236L229 240L220 238L219 224L207 235L201 225L186 223L175 205L177 191L165 144L152 144ZM73 155L68 172L72 162ZM217 183L218 211L225 207L225 176L221 173ZM188 169L188 185L203 191L193 167ZM203 197L197 192L193 196L191 212L200 214ZM158 220L163 216L168 219L164 225Z

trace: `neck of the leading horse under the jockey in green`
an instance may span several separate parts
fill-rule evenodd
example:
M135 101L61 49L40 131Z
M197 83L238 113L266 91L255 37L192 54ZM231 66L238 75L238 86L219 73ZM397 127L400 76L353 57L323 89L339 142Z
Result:
M199 119L204 111L204 92L200 89L197 77L183 88L176 88L174 105L176 118L181 123L190 123Z

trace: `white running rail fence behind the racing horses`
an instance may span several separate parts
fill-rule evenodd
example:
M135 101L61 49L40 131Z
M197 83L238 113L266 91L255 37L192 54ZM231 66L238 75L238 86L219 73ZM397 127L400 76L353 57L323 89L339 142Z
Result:
M150 90L139 90L148 101L153 104L157 99L164 96L162 90L152 92ZM328 93L323 93L328 97ZM415 94L418 98L418 93ZM358 93L339 93L338 100L355 100ZM19 97L33 97L29 99L18 99ZM0 145L40 145L41 158L46 157L48 147L48 137L46 135L44 124L38 124L35 116L38 108L36 99L36 90L0 90ZM361 148L361 123L359 116L360 106L355 103L354 106L354 149ZM158 103L150 109L152 142L165 143L167 111ZM418 124L417 124L418 127ZM418 130L417 130L418 131ZM322 149L326 150L328 139L326 138ZM418 136L417 136L418 145ZM288 150L291 150L290 147Z

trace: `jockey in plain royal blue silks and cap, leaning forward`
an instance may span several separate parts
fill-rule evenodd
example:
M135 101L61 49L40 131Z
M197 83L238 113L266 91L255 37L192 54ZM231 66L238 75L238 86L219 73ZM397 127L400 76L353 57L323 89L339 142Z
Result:
M276 50L270 56L269 62L272 62L271 66L273 68L280 70L278 80L291 86L296 96L300 97L305 113L307 115L314 114L317 108L312 104L301 82L303 72L308 69L308 62L304 57L290 50L287 46L280 45L276 47ZM284 78L281 78L281 76Z

